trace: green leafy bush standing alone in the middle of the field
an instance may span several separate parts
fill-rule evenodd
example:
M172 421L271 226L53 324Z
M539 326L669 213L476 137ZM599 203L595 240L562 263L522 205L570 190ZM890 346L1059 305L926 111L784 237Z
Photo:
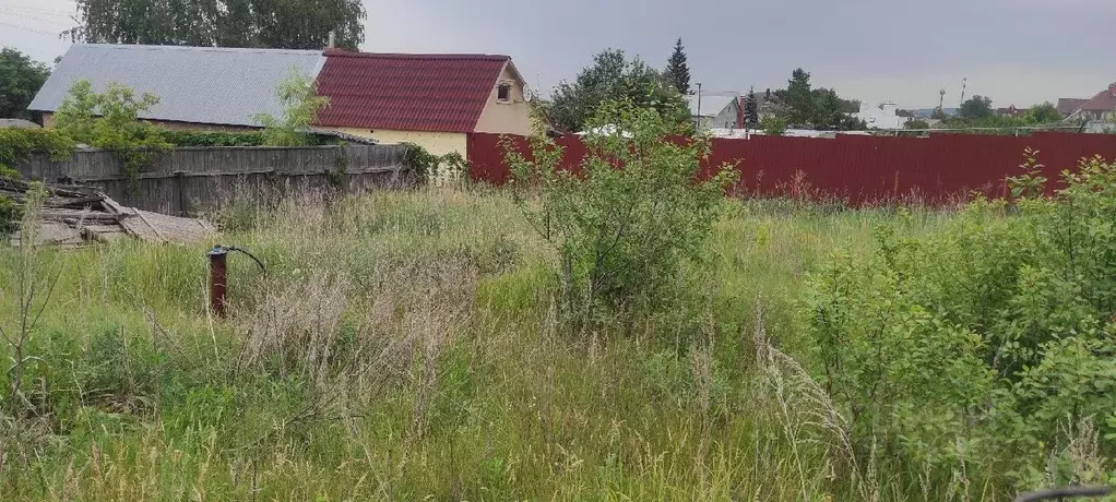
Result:
M586 135L579 174L558 167L561 148L548 138L532 138L532 160L507 149L519 205L558 249L567 308L583 326L670 302L735 175L723 166L699 181L709 143L667 141L679 125L653 108L606 103L588 126L623 133Z

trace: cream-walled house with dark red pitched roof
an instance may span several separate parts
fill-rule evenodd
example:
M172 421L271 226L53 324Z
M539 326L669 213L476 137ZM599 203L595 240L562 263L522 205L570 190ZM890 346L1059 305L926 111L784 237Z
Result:
M318 94L329 107L316 127L465 152L468 133L529 133L530 106L511 58L368 54L327 49Z

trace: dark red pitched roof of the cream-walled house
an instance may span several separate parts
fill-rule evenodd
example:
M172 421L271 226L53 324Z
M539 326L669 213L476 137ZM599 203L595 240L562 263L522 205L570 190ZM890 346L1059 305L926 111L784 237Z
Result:
M469 133L508 56L406 55L326 50L317 124L369 129Z

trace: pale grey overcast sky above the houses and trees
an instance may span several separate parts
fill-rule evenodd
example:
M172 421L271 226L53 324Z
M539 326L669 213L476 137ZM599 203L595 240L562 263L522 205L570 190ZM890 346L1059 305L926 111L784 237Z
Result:
M692 81L745 91L817 86L902 108L966 94L995 106L1090 97L1116 80L1116 0L365 0L367 51L511 56L543 91L593 55L665 66L683 38ZM0 0L0 46L52 61L73 1Z

